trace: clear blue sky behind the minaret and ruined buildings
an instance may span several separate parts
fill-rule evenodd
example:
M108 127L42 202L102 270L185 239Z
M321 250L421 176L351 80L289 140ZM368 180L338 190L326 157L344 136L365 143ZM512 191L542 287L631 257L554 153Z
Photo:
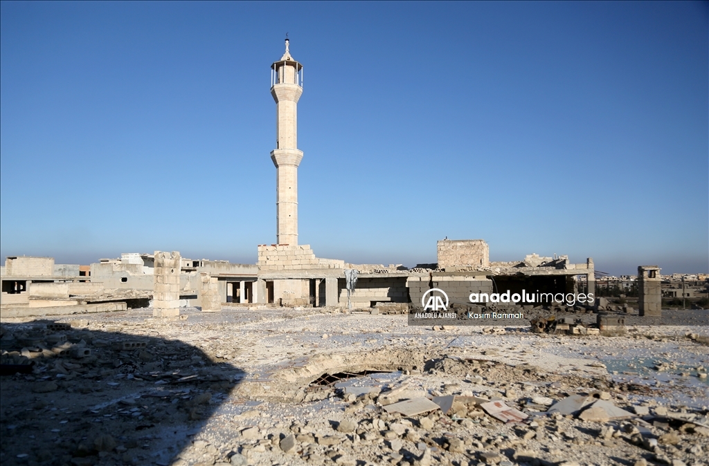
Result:
M299 234L355 263L591 256L709 271L698 2L8 2L0 254L275 242L270 64L304 66Z

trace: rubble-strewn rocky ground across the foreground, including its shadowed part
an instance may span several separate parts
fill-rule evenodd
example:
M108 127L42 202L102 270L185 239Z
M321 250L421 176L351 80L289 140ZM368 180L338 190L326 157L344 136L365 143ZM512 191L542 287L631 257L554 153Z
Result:
M3 319L3 367L27 373L1 378L0 462L703 465L706 341L335 309ZM496 400L525 419L498 420Z

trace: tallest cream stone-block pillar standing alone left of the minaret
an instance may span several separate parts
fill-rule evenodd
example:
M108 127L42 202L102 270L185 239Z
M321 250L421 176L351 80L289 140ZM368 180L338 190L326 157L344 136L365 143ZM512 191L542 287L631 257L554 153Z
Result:
M152 277L152 315L174 317L179 315L180 256L155 251L155 269Z

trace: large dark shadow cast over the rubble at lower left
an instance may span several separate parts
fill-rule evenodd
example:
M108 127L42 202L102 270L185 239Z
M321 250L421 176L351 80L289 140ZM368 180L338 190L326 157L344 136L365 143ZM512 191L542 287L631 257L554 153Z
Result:
M169 465L244 375L182 341L66 325L2 324L2 370L26 372L1 376L3 465Z

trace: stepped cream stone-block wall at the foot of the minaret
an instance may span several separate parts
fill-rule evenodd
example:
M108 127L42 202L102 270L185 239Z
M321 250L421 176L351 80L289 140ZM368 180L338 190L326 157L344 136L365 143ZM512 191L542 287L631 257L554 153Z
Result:
M308 244L261 244L259 249L259 270L298 271L310 268L344 268L345 261L320 259Z

